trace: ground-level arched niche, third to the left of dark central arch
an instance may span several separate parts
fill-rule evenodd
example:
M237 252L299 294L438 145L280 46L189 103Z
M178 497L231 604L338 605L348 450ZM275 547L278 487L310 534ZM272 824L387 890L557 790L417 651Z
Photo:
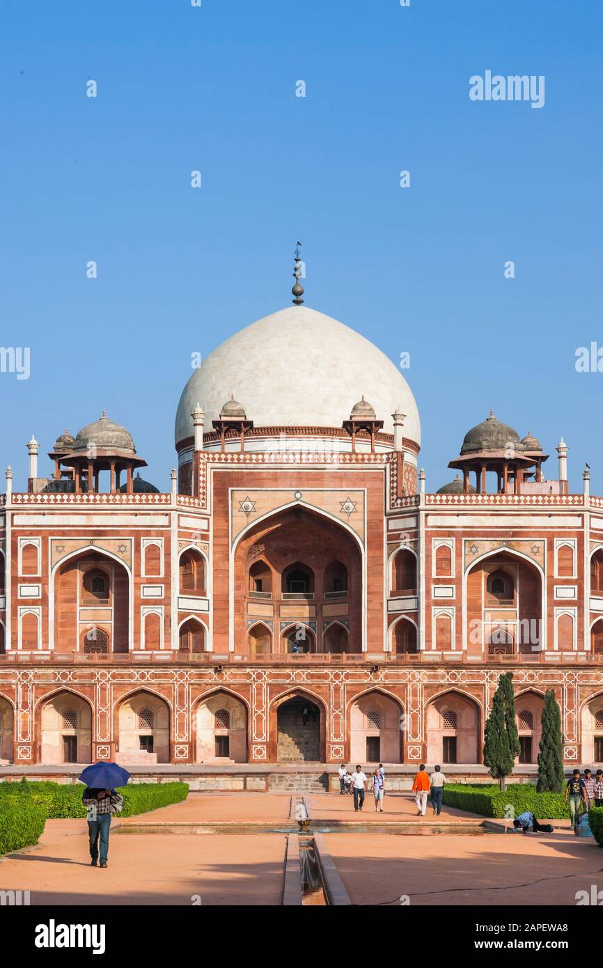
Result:
M59 692L43 701L41 762L90 763L92 711L81 696Z

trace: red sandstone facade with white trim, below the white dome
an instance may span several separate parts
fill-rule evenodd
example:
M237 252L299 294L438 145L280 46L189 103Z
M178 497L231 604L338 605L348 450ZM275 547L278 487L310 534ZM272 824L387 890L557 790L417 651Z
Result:
M169 493L136 486L106 418L85 460L57 441L52 487L7 473L0 761L475 765L509 670L524 763L547 688L567 765L603 761L603 499L588 473L566 493L562 448L547 486L532 442L482 440L477 492L460 459L427 494L401 419L255 428L228 406L213 431L193 412Z

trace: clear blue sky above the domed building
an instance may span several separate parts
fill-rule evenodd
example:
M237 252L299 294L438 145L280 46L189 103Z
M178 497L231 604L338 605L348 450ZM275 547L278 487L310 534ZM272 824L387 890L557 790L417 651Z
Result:
M32 433L45 455L105 408L167 490L191 353L289 303L301 239L307 305L410 353L428 490L494 408L550 477L562 435L570 490L588 461L603 494L603 373L575 369L603 348L602 21L600 0L2 0L15 489ZM486 70L544 75L545 106L471 102Z

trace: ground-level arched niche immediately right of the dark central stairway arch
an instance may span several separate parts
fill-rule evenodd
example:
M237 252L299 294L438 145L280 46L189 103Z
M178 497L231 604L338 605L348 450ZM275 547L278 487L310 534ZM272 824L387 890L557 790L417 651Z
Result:
M368 692L349 711L349 759L352 763L403 763L402 707L382 692Z

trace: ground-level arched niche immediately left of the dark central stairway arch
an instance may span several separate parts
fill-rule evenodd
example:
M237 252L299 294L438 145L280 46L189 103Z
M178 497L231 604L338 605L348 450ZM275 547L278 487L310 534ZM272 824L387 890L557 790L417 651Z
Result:
M247 709L227 692L201 699L196 708L196 762L247 763Z

